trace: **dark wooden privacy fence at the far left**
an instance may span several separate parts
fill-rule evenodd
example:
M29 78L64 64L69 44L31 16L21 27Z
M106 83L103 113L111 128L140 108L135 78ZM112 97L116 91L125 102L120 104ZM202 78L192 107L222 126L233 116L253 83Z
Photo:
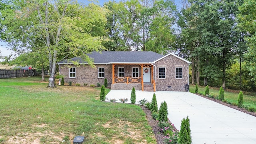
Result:
M38 76L39 73L36 70L1 70L0 69L0 78L17 78L17 77L26 77L26 76Z

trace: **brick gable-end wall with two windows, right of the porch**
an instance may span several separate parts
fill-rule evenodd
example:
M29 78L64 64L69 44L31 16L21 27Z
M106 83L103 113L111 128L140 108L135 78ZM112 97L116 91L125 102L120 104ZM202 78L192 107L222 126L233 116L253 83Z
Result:
M185 84L188 84L188 64L186 62L169 55L157 61L155 65L157 91L185 91ZM165 67L165 79L159 78L159 67ZM176 67L182 68L182 79L176 79Z

